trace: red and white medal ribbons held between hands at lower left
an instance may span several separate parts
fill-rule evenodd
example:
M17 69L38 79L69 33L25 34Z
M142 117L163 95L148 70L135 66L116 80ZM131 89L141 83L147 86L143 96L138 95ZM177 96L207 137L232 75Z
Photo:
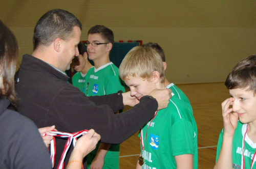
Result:
M56 155L55 137L68 138L67 143L66 143L65 148L64 148L64 151L61 155L58 167L57 167L58 169L63 169L64 168L64 160L65 160L66 154L69 150L69 147L71 145L71 142L73 141L73 147L75 147L77 137L79 137L83 133L87 133L87 132L88 132L88 130L81 130L81 131L77 131L77 132L74 132L74 133L67 133L67 132L52 130L52 131L50 131L50 133L45 133L43 136L45 136L45 135L52 135L53 136L53 139L51 140L51 143L50 143L50 153L51 153L52 167L54 167L55 155ZM82 168L83 168L83 165L82 165Z

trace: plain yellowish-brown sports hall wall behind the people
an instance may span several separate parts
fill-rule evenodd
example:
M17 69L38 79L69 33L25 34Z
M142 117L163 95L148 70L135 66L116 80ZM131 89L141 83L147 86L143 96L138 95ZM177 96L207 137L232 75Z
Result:
M224 81L236 63L256 53L255 0L0 0L0 18L18 40L18 65L32 53L36 22L55 8L81 21L81 40L102 24L115 41L157 42L165 51L166 76L176 84Z

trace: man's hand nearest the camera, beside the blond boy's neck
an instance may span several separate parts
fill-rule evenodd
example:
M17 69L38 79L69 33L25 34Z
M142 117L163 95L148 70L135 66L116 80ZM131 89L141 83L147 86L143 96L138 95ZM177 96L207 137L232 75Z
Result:
M172 98L172 90L170 89L155 89L150 94L158 102L158 110L166 108L169 104L169 99Z

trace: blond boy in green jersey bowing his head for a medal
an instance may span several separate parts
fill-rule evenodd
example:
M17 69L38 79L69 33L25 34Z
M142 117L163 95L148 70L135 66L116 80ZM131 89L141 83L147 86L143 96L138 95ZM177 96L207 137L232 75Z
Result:
M119 75L138 100L165 89L164 66L150 47L134 47L123 59ZM198 168L197 125L187 104L174 95L155 112L139 134L141 154L136 168Z

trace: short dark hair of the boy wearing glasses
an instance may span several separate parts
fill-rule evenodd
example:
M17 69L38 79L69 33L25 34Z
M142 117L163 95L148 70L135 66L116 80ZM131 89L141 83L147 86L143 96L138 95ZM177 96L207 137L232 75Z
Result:
M100 36L106 41L114 44L114 33L108 27L103 25L95 25L88 31L89 34L100 34Z

